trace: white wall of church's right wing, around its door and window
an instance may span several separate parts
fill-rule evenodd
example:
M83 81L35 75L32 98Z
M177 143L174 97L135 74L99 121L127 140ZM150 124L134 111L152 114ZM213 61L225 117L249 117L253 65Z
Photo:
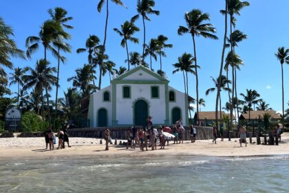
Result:
M179 107L182 109L181 112L181 116L182 116L182 123L183 125L186 124L185 118L186 118L186 110L188 108L186 108L186 103L185 103L185 94L183 92L180 92L178 90L175 90L174 88L172 88L171 86L169 86L169 91L173 90L175 92L175 102L171 102L169 101L169 123L171 124L171 119L172 119L172 114L171 111L173 110L173 108L175 107Z

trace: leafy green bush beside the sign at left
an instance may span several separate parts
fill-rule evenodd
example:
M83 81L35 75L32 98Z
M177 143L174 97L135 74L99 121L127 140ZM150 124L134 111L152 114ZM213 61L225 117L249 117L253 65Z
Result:
M28 111L22 115L23 132L43 132L47 130L48 123L43 121L35 112Z

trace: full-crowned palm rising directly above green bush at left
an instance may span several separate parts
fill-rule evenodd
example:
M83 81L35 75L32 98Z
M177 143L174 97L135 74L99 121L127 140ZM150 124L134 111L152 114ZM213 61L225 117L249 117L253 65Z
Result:
M36 62L35 69L31 67L25 67L26 71L29 71L30 74L23 75L23 81L25 82L25 88L34 88L36 92L41 92L41 100L42 100L42 117L44 118L44 97L43 90L45 89L45 96L47 99L47 104L49 104L49 95L48 90L52 89L52 85L56 85L56 77L54 77L53 73L56 72L56 68L52 68L49 66L50 62L45 61L44 59L40 59ZM47 112L50 112L50 107L47 106ZM48 114L48 121L51 125L51 118Z

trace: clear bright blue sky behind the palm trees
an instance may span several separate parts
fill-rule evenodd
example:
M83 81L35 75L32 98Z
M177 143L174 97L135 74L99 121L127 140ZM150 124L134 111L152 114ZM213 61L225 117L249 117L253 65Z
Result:
M127 8L117 6L109 1L109 24L107 30L107 54L109 59L116 63L116 67L125 66L127 58L125 48L120 46L121 37L114 32L113 28L120 28L120 25L131 19L136 12L136 0L122 0ZM248 0L250 6L244 8L237 16L236 29L248 35L248 39L239 43L235 49L237 54L244 61L244 66L237 72L237 92L246 94L246 89L257 90L274 110L281 111L281 65L275 53L280 46L289 48L289 1L288 0ZM222 54L222 42L224 37L224 16L220 10L224 9L224 0L155 0L154 10L159 10L160 15L149 15L151 21L146 21L147 42L163 34L168 37L167 43L173 44L173 48L165 50L167 57L162 58L162 68L167 74L167 78L173 88L184 92L182 73L172 74L173 63L178 61L184 52L193 54L193 41L190 34L178 35L178 27L185 26L184 13L193 9L200 9L210 15L210 23L217 30L219 40L196 38L197 64L201 66L199 74L199 98L206 101L206 107L202 111L215 110L216 93L208 96L205 92L208 88L214 87L211 77L216 78L220 71L220 61ZM47 10L61 7L67 10L67 16L74 19L69 21L69 25L74 26L73 30L67 30L72 35L68 42L72 45L72 53L64 54L67 62L61 65L60 69L60 96L67 88L72 87L72 82L67 82L67 78L75 75L76 68L82 68L87 63L87 54L76 54L78 48L85 48L85 41L89 34L95 34L103 42L105 30L105 7L102 12L98 12L98 1L93 0L9 0L2 1L0 17L13 28L14 40L21 50L26 50L25 39L29 36L39 34L41 24L50 19ZM136 21L136 26L140 32L136 33L140 44L129 42L129 52L142 52L143 27L142 21ZM14 67L24 68L31 66L34 68L36 60L43 58L43 48L40 48L32 55L31 60L12 59ZM57 66L57 61L51 54L47 59L52 66ZM146 59L149 63L149 58ZM159 61L153 61L153 68L160 68ZM7 72L11 70L6 69ZM287 107L289 101L289 65L284 64L284 99ZM96 74L98 77L98 72ZM102 88L109 85L108 75L103 79ZM11 86L12 92L16 92L16 86ZM55 96L55 88L52 90L52 98ZM189 74L189 95L195 95L195 77ZM222 105L228 101L228 93L222 92ZM242 99L242 96L239 96Z

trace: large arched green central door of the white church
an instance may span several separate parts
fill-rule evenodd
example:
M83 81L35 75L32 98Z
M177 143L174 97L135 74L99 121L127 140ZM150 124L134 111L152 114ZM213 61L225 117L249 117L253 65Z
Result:
M143 100L136 101L134 104L134 125L146 126L147 116L149 116L147 103Z

